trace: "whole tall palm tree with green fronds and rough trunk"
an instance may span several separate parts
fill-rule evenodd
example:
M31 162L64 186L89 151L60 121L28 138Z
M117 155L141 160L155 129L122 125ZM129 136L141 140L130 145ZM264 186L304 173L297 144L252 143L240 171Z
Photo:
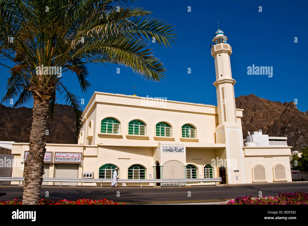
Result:
M173 26L131 0L5 0L0 3L0 57L11 60L2 99L18 97L14 107L33 98L33 122L25 167L23 204L36 204L43 181L45 130L52 120L56 93L64 93L82 127L79 98L61 81L60 71L77 76L87 92L87 63L114 63L132 68L148 80L160 81L166 69L147 47L155 40L171 47ZM2 61L3 62L3 61ZM59 68L57 68L59 67ZM61 67L61 68L60 68ZM58 69L58 73L54 70Z

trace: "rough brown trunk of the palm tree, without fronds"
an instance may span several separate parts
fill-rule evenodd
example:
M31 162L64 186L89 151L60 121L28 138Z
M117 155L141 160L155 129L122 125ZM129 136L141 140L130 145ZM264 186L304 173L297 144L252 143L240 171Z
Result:
M22 204L37 204L44 174L44 155L46 152L47 116L49 100L33 94L33 122L30 134L29 153L25 169Z

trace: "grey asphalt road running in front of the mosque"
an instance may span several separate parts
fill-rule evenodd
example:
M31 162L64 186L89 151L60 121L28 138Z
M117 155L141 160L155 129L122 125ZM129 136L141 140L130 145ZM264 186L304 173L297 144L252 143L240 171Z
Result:
M75 186L42 186L41 198L49 199L109 199L126 204L174 204L198 202L222 202L243 195L257 197L278 195L280 192L305 191L308 193L308 182L249 184L241 186L193 186L193 187L75 187ZM0 199L22 200L22 186L4 186ZM189 197L190 194L190 197ZM120 195L120 197L119 197Z

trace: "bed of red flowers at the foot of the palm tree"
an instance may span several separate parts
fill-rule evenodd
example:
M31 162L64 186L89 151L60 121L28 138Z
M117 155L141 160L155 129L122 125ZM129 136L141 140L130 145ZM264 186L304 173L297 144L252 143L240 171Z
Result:
M14 199L13 201L0 200L0 205L21 205L21 204L22 201L17 201L17 199ZM107 199L99 199L99 200L78 199L77 201L70 201L66 199L63 200L40 199L38 205L119 205L119 203Z

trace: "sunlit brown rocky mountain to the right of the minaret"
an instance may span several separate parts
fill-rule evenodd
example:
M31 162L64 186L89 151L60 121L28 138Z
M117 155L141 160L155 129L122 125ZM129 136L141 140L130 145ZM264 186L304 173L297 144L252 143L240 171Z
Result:
M262 130L262 134L287 137L291 151L302 151L308 146L308 111L297 109L293 101L280 103L262 99L253 94L235 98L236 107L244 109L242 118L243 136L248 131Z

